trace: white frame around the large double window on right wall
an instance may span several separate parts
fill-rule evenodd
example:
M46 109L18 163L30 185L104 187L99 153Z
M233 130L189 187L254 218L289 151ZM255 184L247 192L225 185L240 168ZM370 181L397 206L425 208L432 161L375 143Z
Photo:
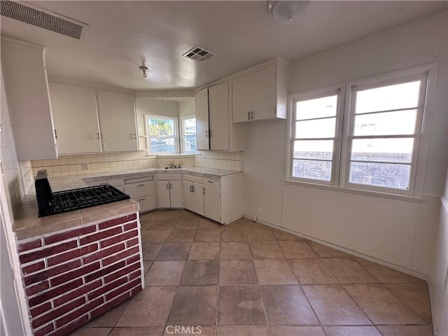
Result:
M386 85L393 85L398 83L405 83L412 79L425 78L422 80L421 96L419 97L419 109L417 111L416 132L414 134L414 148L412 152L412 165L409 176L409 188L406 190L377 187L370 185L361 185L349 183L349 165L351 156L351 142L353 139L354 129L354 107L356 94L353 94L351 88L357 87L365 89L368 87L381 87ZM426 157L428 153L429 135L430 135L430 118L433 109L433 101L435 97L435 83L437 82L437 63L424 64L421 66L414 66L409 69L402 69L393 71L391 73L384 73L377 76L370 76L368 78L361 78L356 80L349 80L346 83L338 85L330 85L305 92L296 92L288 94L288 155L286 158L287 164L287 180L286 183L300 184L304 186L311 186L316 188L330 188L349 193L361 193L366 195L377 195L380 197L398 198L405 200L423 201L423 183L426 169ZM390 83L390 84L388 84ZM319 92L325 95L325 92L331 93L338 86L346 87L344 98L339 99L343 102L344 108L338 110L336 135L339 134L338 141L335 141L335 151L333 151L333 169L332 181L330 183L323 183L325 181L297 179L293 178L293 134L295 134L295 116L293 111L293 104L297 99L303 97L313 97ZM426 86L426 87L425 87ZM310 98L310 99L311 99ZM305 100L305 99L302 99ZM339 124L339 125L338 125ZM339 133L338 133L339 132ZM386 136L387 137L387 136ZM337 152L336 143L339 142L339 152ZM337 163L339 160L339 163ZM337 172L338 171L338 172Z

